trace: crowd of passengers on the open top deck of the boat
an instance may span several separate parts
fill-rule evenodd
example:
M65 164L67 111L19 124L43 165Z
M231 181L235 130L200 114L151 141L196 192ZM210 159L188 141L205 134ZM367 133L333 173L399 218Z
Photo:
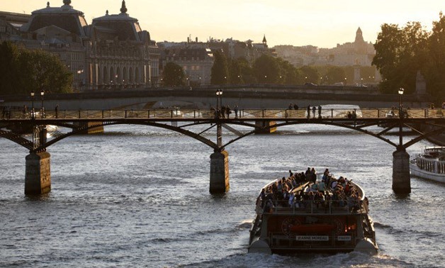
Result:
M309 186L292 191L298 186L311 182ZM323 172L321 182L317 182L317 172L308 167L306 172L293 173L289 177L278 179L266 189L262 189L258 201L265 212L272 211L276 206L288 208L325 208L348 207L359 209L359 194L351 181L346 177L334 178L329 169ZM330 202L329 202L330 201ZM329 204L330 203L330 204Z

